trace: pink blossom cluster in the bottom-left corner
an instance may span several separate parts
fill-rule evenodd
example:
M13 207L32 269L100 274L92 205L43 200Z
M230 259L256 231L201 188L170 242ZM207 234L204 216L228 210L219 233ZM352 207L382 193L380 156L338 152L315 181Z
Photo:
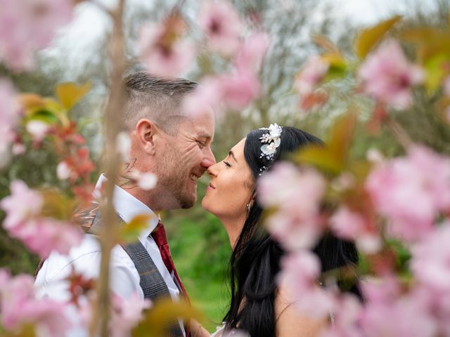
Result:
M65 336L70 329L63 303L36 298L32 277L11 277L6 270L1 269L0 322L6 331L13 333L18 333L23 326L31 324L38 337Z

